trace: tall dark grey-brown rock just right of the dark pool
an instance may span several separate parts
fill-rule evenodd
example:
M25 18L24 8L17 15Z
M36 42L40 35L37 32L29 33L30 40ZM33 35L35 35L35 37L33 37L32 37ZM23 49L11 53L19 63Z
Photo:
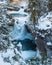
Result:
M40 50L40 52L44 55L47 56L47 49L46 49L46 42L45 39L41 36L38 36L36 39L36 45L38 47L38 49Z

